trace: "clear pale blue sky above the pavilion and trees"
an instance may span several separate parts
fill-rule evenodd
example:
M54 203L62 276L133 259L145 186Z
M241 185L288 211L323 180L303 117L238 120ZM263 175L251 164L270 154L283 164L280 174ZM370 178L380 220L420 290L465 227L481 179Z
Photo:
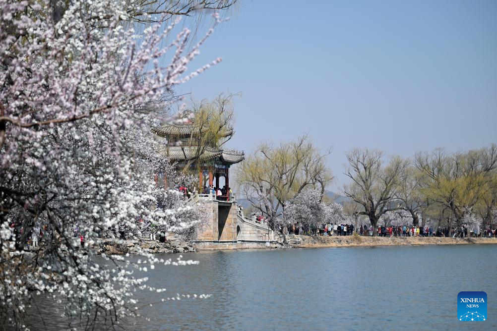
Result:
M497 1L250 1L223 23L179 86L195 99L242 92L228 146L309 132L344 153L477 148L497 141Z

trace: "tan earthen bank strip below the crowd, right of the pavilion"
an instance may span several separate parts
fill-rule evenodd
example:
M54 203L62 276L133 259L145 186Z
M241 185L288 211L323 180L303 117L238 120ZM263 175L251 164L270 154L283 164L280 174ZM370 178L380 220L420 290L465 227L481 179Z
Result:
M441 237L368 237L368 236L280 236L278 242L288 248L402 246L402 245L464 245L497 244L496 238L441 238Z

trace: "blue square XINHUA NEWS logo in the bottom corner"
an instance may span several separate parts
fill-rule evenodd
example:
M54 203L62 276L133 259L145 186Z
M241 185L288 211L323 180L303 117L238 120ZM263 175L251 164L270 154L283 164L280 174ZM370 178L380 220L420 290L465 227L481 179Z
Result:
M487 320L487 293L459 292L457 295L457 319L463 322Z

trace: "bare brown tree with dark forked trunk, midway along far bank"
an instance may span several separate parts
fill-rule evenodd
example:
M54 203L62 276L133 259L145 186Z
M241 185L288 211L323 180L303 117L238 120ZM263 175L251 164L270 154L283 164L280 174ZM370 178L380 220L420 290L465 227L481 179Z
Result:
M382 151L367 148L353 149L346 157L345 175L352 183L345 186L345 195L362 206L358 213L376 227L384 213L401 208L396 205L399 184L409 161L395 156L385 163Z

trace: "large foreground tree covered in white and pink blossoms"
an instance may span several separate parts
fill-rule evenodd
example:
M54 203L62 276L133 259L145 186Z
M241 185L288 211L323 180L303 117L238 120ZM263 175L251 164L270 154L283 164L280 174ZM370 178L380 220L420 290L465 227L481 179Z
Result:
M146 278L132 271L147 268L105 255L113 267L100 265L92 247L119 225L142 235L139 219L163 229L195 220L154 180L175 181L151 128L173 120L156 111L177 101L173 86L221 61L188 73L213 29L190 47L190 30L170 36L177 15L232 2L0 1L2 325L25 328L34 294L64 300L84 328L136 315ZM26 251L33 235L39 248ZM151 268L161 262L143 254Z

